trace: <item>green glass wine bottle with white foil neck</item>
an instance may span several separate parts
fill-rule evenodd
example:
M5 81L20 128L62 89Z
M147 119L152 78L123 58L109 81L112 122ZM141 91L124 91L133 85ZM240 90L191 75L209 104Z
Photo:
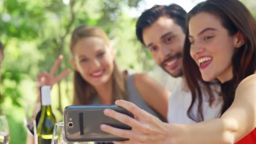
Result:
M56 119L52 112L50 92L50 86L41 87L42 109L36 131L38 144L51 144L53 138L53 129Z

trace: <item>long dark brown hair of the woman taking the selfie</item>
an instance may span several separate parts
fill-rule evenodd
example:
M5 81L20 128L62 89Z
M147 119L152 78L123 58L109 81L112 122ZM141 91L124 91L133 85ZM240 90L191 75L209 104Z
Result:
M239 0L207 0L197 4L187 14L187 27L191 17L201 12L214 14L221 20L222 26L227 29L230 36L240 32L245 41L243 46L235 50L232 57L233 79L221 84L221 94L223 96L222 115L233 103L238 84L256 70L256 21ZM212 90L209 89L210 82L203 81L196 62L190 56L188 34L189 29L187 29L184 43L183 72L192 93L190 107L194 106L194 101L197 99L199 101L197 115L194 116L191 111L188 111L188 115L195 121L203 121L202 91L200 86L207 87L209 95L212 94ZM203 83L203 85L199 85L199 83Z

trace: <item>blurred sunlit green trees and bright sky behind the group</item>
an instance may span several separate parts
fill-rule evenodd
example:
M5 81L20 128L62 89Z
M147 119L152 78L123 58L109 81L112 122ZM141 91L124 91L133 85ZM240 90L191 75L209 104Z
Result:
M10 144L25 144L25 108L36 101L36 75L49 71L62 54L59 72L71 68L69 39L79 24L102 27L115 47L121 69L148 72L172 90L179 79L163 72L135 36L140 14L154 4L177 3L187 12L202 0L0 0L0 40L5 45L0 87L0 113L7 115ZM256 15L255 0L241 0ZM72 73L52 90L58 121L72 104Z

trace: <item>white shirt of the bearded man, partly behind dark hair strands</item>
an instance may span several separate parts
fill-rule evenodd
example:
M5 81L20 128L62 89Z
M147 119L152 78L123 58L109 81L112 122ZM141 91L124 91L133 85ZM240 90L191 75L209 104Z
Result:
M214 86L216 90L220 90L220 87ZM220 111L223 105L223 101L221 97L218 96L217 92L214 93L215 102L214 105L210 106L208 102L208 98L205 96L203 97L203 118L204 121L219 118ZM190 106L192 101L192 95L190 92L186 92L182 90L182 83L172 92L171 97L169 98L168 102L168 112L167 112L167 120L169 123L174 124L181 124L181 123L196 123L192 119L187 116L187 110ZM196 114L197 110L197 101L195 101L194 108L192 111Z

